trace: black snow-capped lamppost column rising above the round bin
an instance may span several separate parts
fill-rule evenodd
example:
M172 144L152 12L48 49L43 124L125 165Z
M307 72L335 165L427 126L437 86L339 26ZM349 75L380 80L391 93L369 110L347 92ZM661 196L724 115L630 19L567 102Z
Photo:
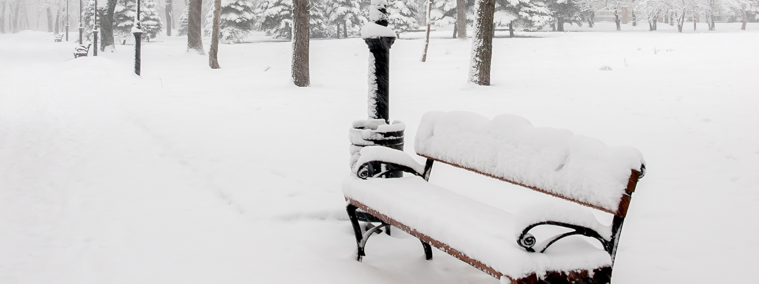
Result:
M361 36L369 45L369 118L389 120L390 45L395 32L387 27L387 1L372 0L369 22L361 28Z

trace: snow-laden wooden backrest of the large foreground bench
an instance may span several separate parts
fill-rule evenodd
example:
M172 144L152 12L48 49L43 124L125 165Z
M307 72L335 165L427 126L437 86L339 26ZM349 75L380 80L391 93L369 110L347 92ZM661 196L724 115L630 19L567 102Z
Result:
M625 217L643 155L524 117L464 111L424 114L417 154Z

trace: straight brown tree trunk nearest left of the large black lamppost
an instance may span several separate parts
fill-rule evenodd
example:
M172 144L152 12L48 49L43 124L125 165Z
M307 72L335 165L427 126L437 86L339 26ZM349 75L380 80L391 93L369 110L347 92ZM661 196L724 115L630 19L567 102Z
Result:
M292 81L295 86L306 87L311 83L308 70L309 4L308 0L294 0L292 6Z

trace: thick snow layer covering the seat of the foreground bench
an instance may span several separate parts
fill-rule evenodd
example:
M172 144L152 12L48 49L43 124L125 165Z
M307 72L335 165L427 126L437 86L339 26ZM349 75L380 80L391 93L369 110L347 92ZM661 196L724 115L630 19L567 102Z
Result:
M512 279L532 273L542 276L546 271L611 266L606 251L579 237L562 239L542 254L525 251L514 237L513 214L427 183L420 176L395 179L349 176L343 181L342 190L346 197Z

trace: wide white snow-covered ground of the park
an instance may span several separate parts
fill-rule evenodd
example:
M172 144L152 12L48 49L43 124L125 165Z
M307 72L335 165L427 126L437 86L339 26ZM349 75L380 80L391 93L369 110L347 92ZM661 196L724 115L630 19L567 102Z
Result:
M409 153L422 114L452 110L635 146L648 172L614 282L751 282L759 25L739 26L495 39L487 87L465 83L470 42L436 31L423 63L423 40L398 40L390 115ZM50 33L0 35L0 282L497 283L441 251L425 261L402 233L354 261L340 184L348 127L366 117L367 45L312 41L299 88L290 43L251 38L222 45L211 70L184 37L159 37L140 78L131 45L74 60ZM430 181L509 211L548 198L444 164Z

